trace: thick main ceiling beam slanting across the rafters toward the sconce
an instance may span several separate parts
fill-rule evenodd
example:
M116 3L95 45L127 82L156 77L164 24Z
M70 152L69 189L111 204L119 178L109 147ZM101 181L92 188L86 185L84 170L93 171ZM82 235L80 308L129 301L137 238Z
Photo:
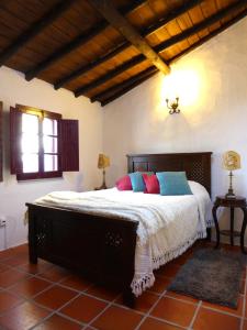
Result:
M114 26L128 42L148 58L161 73L169 74L170 68L149 46L136 29L115 9L111 0L88 0L104 19Z

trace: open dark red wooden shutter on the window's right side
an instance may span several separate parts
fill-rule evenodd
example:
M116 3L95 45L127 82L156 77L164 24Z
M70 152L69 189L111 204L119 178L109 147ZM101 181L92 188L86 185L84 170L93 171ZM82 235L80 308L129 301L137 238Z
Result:
M59 170L79 170L78 120L58 120Z

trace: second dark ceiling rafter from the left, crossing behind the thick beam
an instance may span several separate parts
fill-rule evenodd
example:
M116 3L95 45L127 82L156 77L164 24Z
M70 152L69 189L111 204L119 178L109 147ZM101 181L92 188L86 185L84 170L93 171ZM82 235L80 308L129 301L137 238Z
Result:
M67 1L67 0L66 0ZM66 2L64 1L64 2ZM133 3L124 7L121 9L122 14L128 14L133 10L138 9L141 6L146 3L146 0L135 0L132 1ZM47 58L42 61L40 64L37 64L35 67L31 68L29 72L25 73L25 79L27 81L35 78L38 74L57 63L58 61L63 59L65 56L70 54L71 52L78 50L89 41L91 41L93 37L102 33L106 28L109 26L109 23L106 21L101 21L97 26L89 30L87 33L79 34L76 38L70 41L69 43L63 45L58 50L56 50L54 53L52 53Z

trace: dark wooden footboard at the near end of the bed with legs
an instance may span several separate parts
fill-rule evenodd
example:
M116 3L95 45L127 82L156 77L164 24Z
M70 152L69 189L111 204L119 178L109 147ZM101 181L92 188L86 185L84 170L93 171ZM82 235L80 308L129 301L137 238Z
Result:
M44 258L79 271L96 280L123 290L134 304L134 276L138 222L26 204L29 208L30 262Z

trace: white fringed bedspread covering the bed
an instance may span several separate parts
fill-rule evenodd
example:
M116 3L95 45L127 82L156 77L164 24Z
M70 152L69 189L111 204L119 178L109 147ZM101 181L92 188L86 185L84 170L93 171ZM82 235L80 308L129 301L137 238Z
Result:
M87 193L54 191L35 202L138 221L132 282L132 290L138 296L154 284L155 268L206 235L210 196L200 184L189 182L189 185L193 195L160 196L112 188Z

